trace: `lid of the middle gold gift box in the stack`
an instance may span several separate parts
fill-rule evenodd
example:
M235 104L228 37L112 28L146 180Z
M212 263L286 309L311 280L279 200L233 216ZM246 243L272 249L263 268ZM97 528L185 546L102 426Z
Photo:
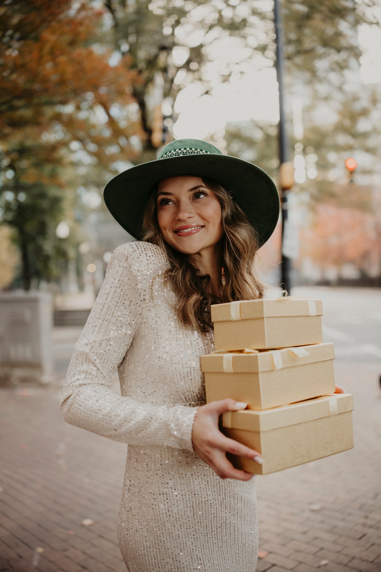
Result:
M221 352L201 356L204 373L250 374L335 359L334 344L301 345L270 351Z

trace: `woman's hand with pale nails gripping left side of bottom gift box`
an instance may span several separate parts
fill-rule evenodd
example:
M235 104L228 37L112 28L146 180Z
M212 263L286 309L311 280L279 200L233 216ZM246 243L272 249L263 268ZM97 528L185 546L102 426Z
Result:
M192 443L195 453L202 458L222 479L249 480L254 476L251 472L240 471L232 466L226 453L240 455L262 464L262 457L254 449L250 449L234 439L229 439L218 428L218 418L226 411L239 411L246 408L247 403L236 402L235 399L222 399L198 407L193 428Z

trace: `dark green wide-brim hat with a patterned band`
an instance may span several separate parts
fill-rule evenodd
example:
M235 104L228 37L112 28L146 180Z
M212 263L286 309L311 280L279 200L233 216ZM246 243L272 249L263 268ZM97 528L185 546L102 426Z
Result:
M107 208L130 235L140 240L153 185L179 175L218 181L258 231L260 245L270 238L279 217L279 194L271 177L256 165L224 155L214 145L199 139L171 141L156 161L142 163L111 179L103 193Z

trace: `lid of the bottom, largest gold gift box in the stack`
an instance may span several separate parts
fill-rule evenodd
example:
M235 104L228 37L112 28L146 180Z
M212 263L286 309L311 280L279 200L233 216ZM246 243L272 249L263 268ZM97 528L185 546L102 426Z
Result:
M271 431L347 411L353 411L352 395L328 394L263 411L250 409L227 411L222 415L222 425L245 431Z

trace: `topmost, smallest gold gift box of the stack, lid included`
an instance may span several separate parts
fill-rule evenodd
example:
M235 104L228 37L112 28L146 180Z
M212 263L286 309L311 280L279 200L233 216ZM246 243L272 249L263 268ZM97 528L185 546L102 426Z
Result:
M319 344L322 301L284 297L211 306L215 349L271 349Z

